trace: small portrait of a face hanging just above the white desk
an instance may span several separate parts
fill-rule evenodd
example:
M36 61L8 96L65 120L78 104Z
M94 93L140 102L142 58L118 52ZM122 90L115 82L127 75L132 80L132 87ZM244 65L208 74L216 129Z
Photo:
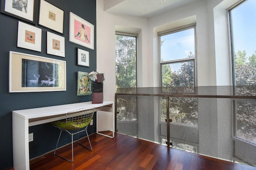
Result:
M88 72L78 71L77 73L77 96L92 94L92 80Z

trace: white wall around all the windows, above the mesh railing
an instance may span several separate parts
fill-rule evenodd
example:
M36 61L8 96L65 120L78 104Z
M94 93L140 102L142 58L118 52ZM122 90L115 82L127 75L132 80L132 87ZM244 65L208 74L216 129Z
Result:
M157 33L196 22L197 86L231 85L226 9L236 2L200 0L146 19L109 14L97 0L97 70L106 74L104 100L114 101L115 31L138 34L138 87L157 87Z

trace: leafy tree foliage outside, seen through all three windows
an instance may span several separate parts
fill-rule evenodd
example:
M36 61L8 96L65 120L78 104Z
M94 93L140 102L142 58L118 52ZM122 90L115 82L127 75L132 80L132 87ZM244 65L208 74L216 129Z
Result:
M164 41L161 41L161 44ZM190 53L187 57L194 58ZM256 51L246 57L246 51L235 53L236 86L256 85ZM194 63L183 62L178 70L172 71L172 64L162 65L162 87L194 86ZM116 88L136 87L136 38L116 35ZM170 119L174 123L198 126L196 98L170 98ZM245 107L245 108L244 108ZM119 98L118 122L135 121L136 97ZM256 143L255 104L236 102L236 136ZM161 121L166 119L166 98L160 97Z

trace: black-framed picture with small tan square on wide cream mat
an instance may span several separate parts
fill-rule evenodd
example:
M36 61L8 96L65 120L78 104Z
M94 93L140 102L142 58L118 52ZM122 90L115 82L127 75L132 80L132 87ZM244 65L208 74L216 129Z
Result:
M63 34L64 11L56 6L40 0L39 25Z

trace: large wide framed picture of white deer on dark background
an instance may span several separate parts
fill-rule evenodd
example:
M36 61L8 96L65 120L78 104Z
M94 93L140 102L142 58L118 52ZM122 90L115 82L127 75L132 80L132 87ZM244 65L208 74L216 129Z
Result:
M10 51L9 92L66 91L66 61Z

